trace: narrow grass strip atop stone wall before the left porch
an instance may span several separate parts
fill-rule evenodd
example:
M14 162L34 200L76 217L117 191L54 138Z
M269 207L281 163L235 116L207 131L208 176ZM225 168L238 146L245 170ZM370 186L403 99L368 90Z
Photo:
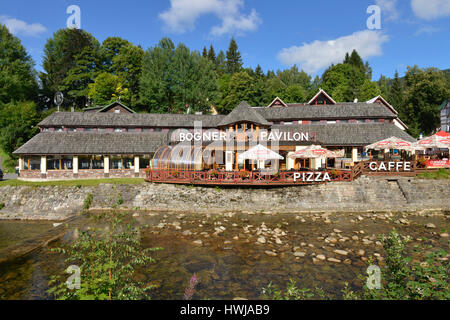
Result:
M144 183L144 179L141 178L118 178L118 179L92 179L92 180L62 180L62 181L44 181L44 182L31 182L21 180L7 180L0 181L0 187L3 186L65 186L65 187L89 187L98 186L101 183L109 184L141 184Z

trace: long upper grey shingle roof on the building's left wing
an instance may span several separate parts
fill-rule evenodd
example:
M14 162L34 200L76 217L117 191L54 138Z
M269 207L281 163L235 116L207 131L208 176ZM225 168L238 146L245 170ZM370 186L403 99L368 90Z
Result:
M40 127L194 127L195 121L202 121L203 127L216 127L225 116L195 114L155 113L90 113L55 112L42 120Z

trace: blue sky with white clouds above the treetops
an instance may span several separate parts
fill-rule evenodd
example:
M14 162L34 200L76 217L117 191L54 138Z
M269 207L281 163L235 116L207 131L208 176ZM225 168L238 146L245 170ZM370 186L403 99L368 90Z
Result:
M357 48L374 70L392 77L408 65L450 68L450 0L2 0L0 22L18 36L42 70L45 42L66 27L78 5L81 27L99 41L119 36L144 49L162 37L194 50L238 42L245 66L277 70L296 63L321 75ZM378 5L381 29L369 30Z

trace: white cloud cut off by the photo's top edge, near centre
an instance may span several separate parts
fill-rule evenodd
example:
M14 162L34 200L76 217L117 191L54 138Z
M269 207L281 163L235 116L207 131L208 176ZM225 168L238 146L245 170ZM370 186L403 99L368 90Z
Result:
M206 14L213 14L222 21L221 25L211 29L215 36L254 31L261 24L256 10L252 9L248 15L241 12L244 0L170 0L170 4L159 18L169 31L175 33L194 30L197 19Z

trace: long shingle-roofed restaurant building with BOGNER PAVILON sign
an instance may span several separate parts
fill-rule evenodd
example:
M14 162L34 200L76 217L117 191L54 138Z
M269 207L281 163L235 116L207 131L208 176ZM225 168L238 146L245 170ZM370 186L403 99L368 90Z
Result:
M264 163L238 161L255 144L276 149L285 159L280 170L323 165L326 159L289 157L311 144L344 149L343 158L326 165L347 167L364 157L365 145L392 136L415 141L401 124L381 97L336 103L323 90L308 103L276 98L269 106L252 107L242 102L228 115L143 114L115 102L85 112L53 113L14 154L20 159L20 178L28 180L144 177L146 168L261 169ZM185 139L195 134L202 139ZM211 136L218 139L204 139Z

